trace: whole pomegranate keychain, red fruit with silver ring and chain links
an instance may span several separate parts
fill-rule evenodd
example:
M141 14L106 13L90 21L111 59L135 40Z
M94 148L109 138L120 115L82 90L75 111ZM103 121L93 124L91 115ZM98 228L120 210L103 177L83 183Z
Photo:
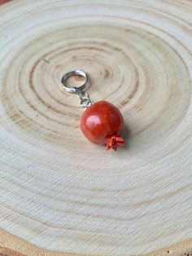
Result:
M69 77L85 77L85 83L79 87L68 87L66 81ZM87 74L81 70L75 70L65 74L62 78L63 88L67 92L76 93L81 100L81 107L86 108L81 117L81 131L90 142L106 144L107 150L124 145L124 139L120 136L124 128L124 118L120 110L113 104L101 100L94 103L84 91L89 86Z

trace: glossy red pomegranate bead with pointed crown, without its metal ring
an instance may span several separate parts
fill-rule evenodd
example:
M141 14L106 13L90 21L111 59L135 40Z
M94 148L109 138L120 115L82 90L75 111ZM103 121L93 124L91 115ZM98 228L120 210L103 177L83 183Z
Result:
M120 110L107 101L91 105L81 117L81 130L85 137L96 144L106 144L109 141L107 149L116 150L118 143L124 144L119 136L123 128L124 118ZM121 141L116 138L121 138Z

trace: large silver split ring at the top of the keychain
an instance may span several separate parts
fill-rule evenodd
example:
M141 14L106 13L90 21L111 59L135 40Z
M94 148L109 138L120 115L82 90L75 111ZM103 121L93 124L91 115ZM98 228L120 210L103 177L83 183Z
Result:
M81 77L85 77L85 83L82 86L72 86L72 87L68 87L66 86L66 81L68 80L69 77L73 77L73 76L81 76ZM66 73L62 79L61 82L63 83L63 88L64 90L66 90L67 92L70 93L78 93L81 90L84 90L85 88L87 88L89 86L89 78L87 76L87 74L84 71L81 70L74 70L71 71L69 73Z

